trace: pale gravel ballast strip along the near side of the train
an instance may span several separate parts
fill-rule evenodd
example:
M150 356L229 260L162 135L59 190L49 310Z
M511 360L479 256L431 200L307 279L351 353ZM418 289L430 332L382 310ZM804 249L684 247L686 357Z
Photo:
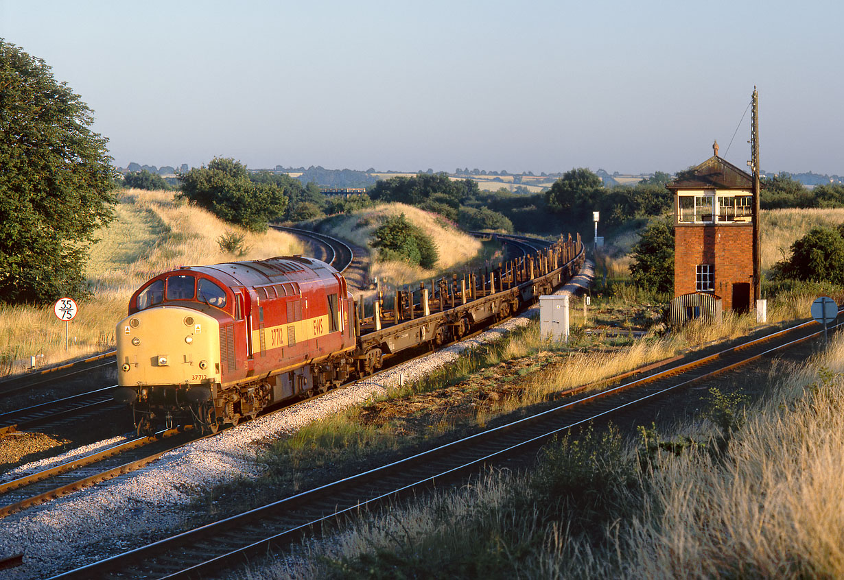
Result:
M557 293L588 287L592 277L592 264L587 262L581 275ZM307 422L380 395L398 384L401 374L406 380L419 379L455 360L461 352L527 325L537 311L538 306L534 306L472 339L244 423L214 438L188 444L142 470L3 518L0 559L23 552L24 565L0 571L0 580L51 576L189 527L192 510L188 504L203 490L236 476L259 475L256 441L295 432ZM94 447L114 443L116 440L104 441ZM70 460L78 454L74 449L61 459L49 461ZM14 473L30 472L45 467L47 462L23 465Z

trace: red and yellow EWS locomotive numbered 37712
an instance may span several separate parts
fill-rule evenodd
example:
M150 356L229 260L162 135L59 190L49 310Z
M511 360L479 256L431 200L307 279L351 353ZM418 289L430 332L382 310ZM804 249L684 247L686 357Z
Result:
M154 277L116 328L116 400L138 432L214 432L264 407L343 383L354 369L344 277L300 256L189 266Z

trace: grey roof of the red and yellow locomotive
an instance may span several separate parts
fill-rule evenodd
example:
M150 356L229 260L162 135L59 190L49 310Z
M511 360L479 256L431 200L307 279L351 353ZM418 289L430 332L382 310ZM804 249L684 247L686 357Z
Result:
M262 286L279 282L308 282L331 279L337 273L321 260L301 256L279 256L268 260L225 262L213 266L182 266L217 278L229 286Z

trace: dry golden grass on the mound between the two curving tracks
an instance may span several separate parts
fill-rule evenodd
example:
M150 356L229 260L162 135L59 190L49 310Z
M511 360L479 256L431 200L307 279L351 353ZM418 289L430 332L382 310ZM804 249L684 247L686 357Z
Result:
M372 276L386 280L393 285L402 285L438 277L445 271L452 271L456 266L473 260L481 250L478 239L463 234L442 217L425 212L418 207L403 203L387 203L371 209L350 213L341 220L334 221L330 234L341 239L348 239L354 244L368 247L373 230L385 223L390 217L400 214L430 235L434 240L440 258L436 268L425 270L401 261L376 261L372 264Z

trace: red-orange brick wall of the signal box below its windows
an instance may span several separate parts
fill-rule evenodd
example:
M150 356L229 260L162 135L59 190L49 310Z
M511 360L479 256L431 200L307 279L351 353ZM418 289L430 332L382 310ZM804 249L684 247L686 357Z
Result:
M733 284L753 289L753 226L750 223L677 223L674 227L674 296L695 292L695 266L715 266L715 291L733 309ZM739 293L745 288L739 287Z

